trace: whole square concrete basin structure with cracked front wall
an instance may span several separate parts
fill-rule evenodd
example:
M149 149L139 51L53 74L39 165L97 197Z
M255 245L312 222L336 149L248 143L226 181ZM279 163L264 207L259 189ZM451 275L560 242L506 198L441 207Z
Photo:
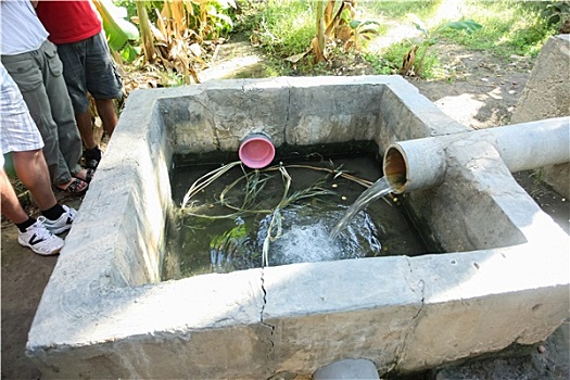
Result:
M262 126L278 144L368 137L381 150L467 132L397 76L136 91L29 332L43 378L263 379L342 358L409 371L536 342L567 317L568 236L485 141L451 155L439 189L404 197L448 253L157 282L173 152L237 149Z

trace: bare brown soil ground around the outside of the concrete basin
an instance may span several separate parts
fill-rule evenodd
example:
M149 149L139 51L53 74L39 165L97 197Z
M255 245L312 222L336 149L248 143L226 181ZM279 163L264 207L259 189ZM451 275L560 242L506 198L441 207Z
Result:
M444 80L409 78L420 93L434 102L444 113L473 129L491 128L509 123L512 111L529 78L534 60L512 56L504 62L485 52L467 52L454 45L440 43L433 48L449 73ZM237 53L238 52L238 53ZM221 46L216 56L225 77L243 76L230 58L256 56L263 65L263 54L245 41ZM243 61L241 61L243 62ZM233 74L228 74L228 67ZM332 62L332 75L371 74L364 60ZM248 67L250 73L263 73L263 67ZM214 68L204 77L214 77ZM302 74L302 73L300 73ZM128 79L127 79L128 80ZM137 86L138 87L138 86ZM537 204L570 235L568 200L540 180L534 172L515 175L519 183ZM58 193L62 198L62 193ZM66 204L80 207L81 199L63 199ZM37 213L34 206L28 210ZM38 379L40 372L24 355L27 332L43 288L58 257L42 257L17 243L16 228L9 221L1 226L1 289L2 289L2 379ZM548 340L533 346L510 347L484 358L471 359L446 368L434 368L415 373L409 379L569 379L568 320Z

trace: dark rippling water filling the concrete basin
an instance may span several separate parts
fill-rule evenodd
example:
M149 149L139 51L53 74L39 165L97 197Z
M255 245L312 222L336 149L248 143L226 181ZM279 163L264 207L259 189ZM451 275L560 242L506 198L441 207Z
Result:
M172 176L175 204L182 203L197 179L219 167L219 164L177 167ZM367 187L382 176L381 164L373 155L320 156L317 161L282 162L281 167L276 164L267 172L259 170L256 181L264 176L264 187L249 204L248 212L238 212L244 194L252 192L246 190L243 177L256 172L239 164L192 195L183 211L177 210L168 228L163 279L264 265L414 256L428 251L400 200L369 199L359 210L351 208ZM330 173L331 169L337 172ZM349 178L338 172L349 174ZM290 203L283 202L286 189L293 199ZM294 197L308 192L307 189L317 195ZM350 220L337 228L332 239L331 231L343 217L346 219L347 212Z

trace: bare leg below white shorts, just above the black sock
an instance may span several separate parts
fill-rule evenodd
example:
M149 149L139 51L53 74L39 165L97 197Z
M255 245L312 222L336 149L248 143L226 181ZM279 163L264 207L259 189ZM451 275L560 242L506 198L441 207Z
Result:
M31 192L39 208L49 210L53 207L58 201L51 189L48 165L46 164L41 150L12 152L12 161L14 162L14 169L16 170L17 177L29 192Z

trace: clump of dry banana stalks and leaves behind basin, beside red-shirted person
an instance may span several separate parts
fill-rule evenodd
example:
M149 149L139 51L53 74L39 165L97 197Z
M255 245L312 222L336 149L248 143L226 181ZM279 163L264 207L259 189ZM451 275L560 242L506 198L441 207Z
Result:
M137 15L131 20L137 27L112 0L93 3L113 52L129 63L142 52L140 63L187 85L198 83L198 71L205 66L202 43L231 29L227 13L236 8L235 0L135 0Z

